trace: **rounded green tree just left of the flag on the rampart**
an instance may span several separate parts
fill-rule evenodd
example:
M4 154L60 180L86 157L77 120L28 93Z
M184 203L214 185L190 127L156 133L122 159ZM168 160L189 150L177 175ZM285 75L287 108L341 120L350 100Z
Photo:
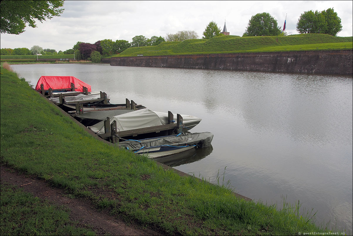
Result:
M244 36L277 36L281 33L281 28L277 26L277 21L269 13L257 13L252 16L247 24Z

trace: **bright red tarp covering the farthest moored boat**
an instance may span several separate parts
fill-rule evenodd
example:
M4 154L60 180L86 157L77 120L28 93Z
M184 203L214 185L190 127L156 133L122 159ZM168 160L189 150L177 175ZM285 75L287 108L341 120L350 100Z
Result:
M75 85L75 91L83 92L82 86L85 86L88 92L92 92L89 84L73 76L41 76L37 82L36 90L41 90L41 84L44 85L44 90L48 90L49 88L57 90L71 88L71 83Z

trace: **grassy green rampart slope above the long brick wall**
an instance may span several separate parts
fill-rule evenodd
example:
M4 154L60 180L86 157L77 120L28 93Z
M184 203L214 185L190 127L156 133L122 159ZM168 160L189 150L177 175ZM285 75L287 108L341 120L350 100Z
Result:
M209 40L192 39L183 42L162 42L157 46L131 47L113 57L352 49L353 37L327 34L254 37L222 35Z

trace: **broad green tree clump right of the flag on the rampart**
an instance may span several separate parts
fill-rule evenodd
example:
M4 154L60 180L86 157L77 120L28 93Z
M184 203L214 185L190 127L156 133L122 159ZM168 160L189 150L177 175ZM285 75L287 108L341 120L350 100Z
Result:
M297 22L297 30L301 34L330 34L336 36L342 30L341 18L333 8L326 11L305 11Z

